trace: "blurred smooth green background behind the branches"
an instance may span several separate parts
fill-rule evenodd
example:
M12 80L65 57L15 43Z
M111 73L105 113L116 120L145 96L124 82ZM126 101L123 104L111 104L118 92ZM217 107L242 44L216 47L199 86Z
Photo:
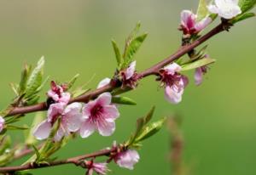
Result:
M180 11L183 8L195 11L197 3L197 0L1 1L0 106L3 108L14 97L9 82L19 82L22 64L35 64L42 55L46 59L45 75L50 79L63 82L79 73L78 85L95 75L88 85L95 88L102 78L113 75L111 38L123 47L125 37L138 20L143 31L149 33L136 55L137 70L142 71L178 48ZM155 104L155 119L172 113L183 116L183 157L194 174L256 174L255 31L255 19L246 20L229 33L208 41L208 53L218 61L200 87L195 87L191 79L181 104L167 103L163 89L154 82L154 77L148 77L136 91L126 94L137 100L137 106L120 107L121 117L113 136L103 138L96 133L87 139L73 140L57 155L60 158L81 155L111 145L113 140L124 141L134 130L137 117ZM30 123L31 119L29 115L23 122ZM12 135L15 142L22 140L18 132ZM172 174L167 159L169 142L169 133L163 129L144 142L141 161L134 171L111 164L113 171L109 174ZM83 169L72 165L33 172L84 174Z

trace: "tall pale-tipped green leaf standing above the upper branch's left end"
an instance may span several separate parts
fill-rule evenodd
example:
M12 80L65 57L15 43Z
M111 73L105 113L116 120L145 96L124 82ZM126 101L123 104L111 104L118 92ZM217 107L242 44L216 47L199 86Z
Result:
M26 82L26 97L31 96L41 86L43 80L44 57L39 59L38 65L32 71Z

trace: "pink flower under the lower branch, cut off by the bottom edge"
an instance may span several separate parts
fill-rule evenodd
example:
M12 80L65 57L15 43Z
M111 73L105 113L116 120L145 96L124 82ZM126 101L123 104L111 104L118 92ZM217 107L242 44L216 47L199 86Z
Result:
M92 175L96 172L99 175L106 175L108 172L107 163L95 163L91 161L85 161L85 167L88 169L85 175Z

